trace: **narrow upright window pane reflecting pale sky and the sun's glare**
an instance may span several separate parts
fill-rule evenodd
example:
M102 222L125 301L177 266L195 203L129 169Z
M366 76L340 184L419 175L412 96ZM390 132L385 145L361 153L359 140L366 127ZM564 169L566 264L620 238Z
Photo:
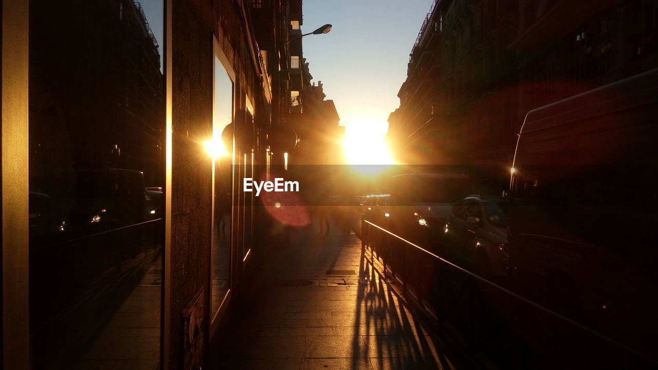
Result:
M215 57L215 102L213 136L221 137L226 155L215 159L215 219L213 219L213 263L211 277L211 312L214 316L230 289L231 272L231 205L233 139L233 81L220 60ZM230 126L229 126L230 125Z

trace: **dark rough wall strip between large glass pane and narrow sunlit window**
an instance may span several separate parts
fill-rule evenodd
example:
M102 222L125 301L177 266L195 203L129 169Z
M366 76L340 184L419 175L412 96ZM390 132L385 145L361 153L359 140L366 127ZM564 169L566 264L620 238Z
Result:
M199 142L213 128L213 49L211 25L202 16L210 5L200 3L176 0L172 9L172 294L170 342L164 344L170 369L182 365L183 311L204 290L209 271L212 161ZM205 310L205 295L202 300Z

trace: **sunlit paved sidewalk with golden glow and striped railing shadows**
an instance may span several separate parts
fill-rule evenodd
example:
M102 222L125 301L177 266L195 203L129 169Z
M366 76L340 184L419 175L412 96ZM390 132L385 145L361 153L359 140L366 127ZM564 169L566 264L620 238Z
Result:
M297 229L270 265L263 293L231 329L222 369L453 369L354 234Z

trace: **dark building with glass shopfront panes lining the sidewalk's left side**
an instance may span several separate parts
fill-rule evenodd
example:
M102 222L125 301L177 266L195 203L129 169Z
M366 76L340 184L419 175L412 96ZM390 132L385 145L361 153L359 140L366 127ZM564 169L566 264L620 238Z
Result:
M3 368L213 362L286 240L241 181L295 158L301 10L3 1Z

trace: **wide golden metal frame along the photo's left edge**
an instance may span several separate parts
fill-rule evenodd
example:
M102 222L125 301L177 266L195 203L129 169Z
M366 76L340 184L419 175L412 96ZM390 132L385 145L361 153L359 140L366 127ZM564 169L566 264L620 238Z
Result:
M2 1L2 362L30 363L28 0Z

